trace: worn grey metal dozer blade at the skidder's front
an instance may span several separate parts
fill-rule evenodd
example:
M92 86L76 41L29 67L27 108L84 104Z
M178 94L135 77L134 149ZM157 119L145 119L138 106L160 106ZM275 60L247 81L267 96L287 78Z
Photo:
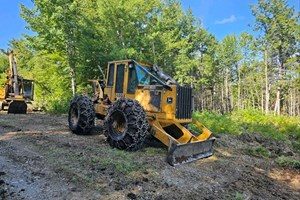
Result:
M213 154L212 147L214 141L215 138L186 144L176 144L175 142L171 142L167 154L167 162L174 166L201 158L207 158Z

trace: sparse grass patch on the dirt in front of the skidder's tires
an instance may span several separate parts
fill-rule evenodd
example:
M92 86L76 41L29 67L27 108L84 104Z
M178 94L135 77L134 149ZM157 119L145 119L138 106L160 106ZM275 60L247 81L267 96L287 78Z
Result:
M83 170L81 168L111 168L117 173L121 173L125 176L130 176L132 172L145 171L150 166L142 163L142 160L136 159L136 152L126 152L118 149L107 149L105 155L81 155L80 152L76 152L76 149L70 150L63 147L50 146L47 151L45 147L43 151L48 158L48 161L56 166L59 170L66 174L81 174ZM90 182L88 174L80 177L85 182Z

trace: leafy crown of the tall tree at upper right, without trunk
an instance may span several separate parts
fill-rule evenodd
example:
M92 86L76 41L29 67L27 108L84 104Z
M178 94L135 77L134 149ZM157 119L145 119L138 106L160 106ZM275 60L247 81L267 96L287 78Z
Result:
M297 52L299 39L299 14L288 6L286 0L259 0L252 5L252 14L256 17L254 30L262 31L264 40L279 56L279 62Z

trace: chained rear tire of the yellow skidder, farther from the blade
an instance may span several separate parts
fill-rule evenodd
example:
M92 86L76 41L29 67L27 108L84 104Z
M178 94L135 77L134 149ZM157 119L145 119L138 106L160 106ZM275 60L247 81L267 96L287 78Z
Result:
M95 125L95 108L85 95L74 97L69 108L69 128L76 134L89 134Z

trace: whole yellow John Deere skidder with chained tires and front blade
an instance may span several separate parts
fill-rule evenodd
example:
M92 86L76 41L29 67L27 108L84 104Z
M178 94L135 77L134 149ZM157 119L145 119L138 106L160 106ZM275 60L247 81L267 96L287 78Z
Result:
M88 134L94 116L104 119L110 146L128 151L142 148L147 134L168 146L171 165L212 155L214 138L192 119L192 89L182 87L157 66L134 60L108 63L106 80L93 80L94 96L76 96L69 108L69 127ZM194 123L201 133L191 133Z

